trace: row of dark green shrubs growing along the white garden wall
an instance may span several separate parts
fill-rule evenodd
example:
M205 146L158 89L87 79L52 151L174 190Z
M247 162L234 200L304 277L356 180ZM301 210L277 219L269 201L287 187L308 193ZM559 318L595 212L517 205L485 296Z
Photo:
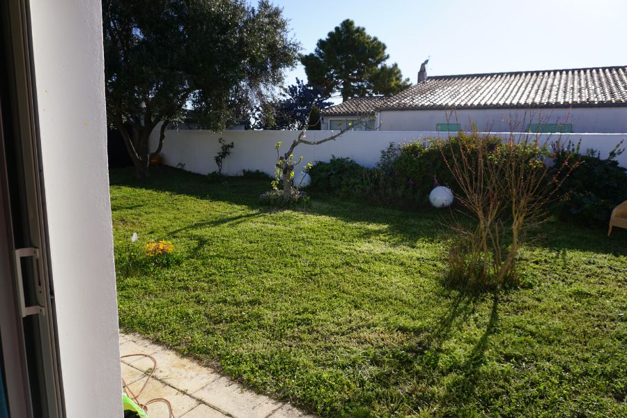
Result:
M311 189L348 199L367 199L387 206L428 205L428 195L435 186L445 185L456 191L456 183L442 157L453 161L460 157L460 141L475 144L479 134L460 132L450 139L431 139L390 146L382 150L377 166L367 169L349 158L333 157L330 162L316 162L309 170ZM483 138L490 146L502 139ZM621 143L622 144L622 143ZM582 154L578 146L567 146L555 157L556 167L564 159L580 165L571 171L555 194L554 213L558 219L580 224L601 224L612 209L627 200L627 170L616 160L619 144L607 159L598 153Z

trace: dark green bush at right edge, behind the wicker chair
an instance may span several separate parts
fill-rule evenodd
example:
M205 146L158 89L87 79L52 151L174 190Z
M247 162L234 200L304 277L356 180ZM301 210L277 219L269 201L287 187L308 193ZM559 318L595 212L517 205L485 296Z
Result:
M555 212L559 219L580 224L608 222L612 209L627 200L627 170L616 160L624 153L621 141L601 159L594 150L580 153L580 145L568 146L557 155L557 162L580 161L559 190Z

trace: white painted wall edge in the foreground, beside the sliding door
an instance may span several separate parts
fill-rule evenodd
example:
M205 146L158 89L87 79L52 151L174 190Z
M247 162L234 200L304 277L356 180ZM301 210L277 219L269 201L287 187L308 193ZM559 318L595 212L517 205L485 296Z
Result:
M67 416L122 417L99 0L31 0Z

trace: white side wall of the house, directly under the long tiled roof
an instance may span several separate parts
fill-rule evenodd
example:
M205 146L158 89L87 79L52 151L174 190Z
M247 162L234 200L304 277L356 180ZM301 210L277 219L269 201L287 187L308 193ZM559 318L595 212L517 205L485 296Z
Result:
M509 132L510 123L520 130L529 123L571 123L574 132L626 133L627 107L575 107L573 109L468 109L454 114L444 110L381 111L380 130L435 130L437 123L459 123L463 130L470 121L486 132ZM522 123L524 121L524 123ZM517 130L518 130L517 129Z

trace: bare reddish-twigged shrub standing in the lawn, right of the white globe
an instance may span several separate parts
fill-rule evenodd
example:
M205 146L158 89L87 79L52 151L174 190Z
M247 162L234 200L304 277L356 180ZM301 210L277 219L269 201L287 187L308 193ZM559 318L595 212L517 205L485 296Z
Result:
M472 126L470 134L439 144L459 204L450 224L456 237L449 279L490 288L517 284L518 251L549 219L550 203L578 161L555 164L560 139L530 132L512 130L503 139Z

